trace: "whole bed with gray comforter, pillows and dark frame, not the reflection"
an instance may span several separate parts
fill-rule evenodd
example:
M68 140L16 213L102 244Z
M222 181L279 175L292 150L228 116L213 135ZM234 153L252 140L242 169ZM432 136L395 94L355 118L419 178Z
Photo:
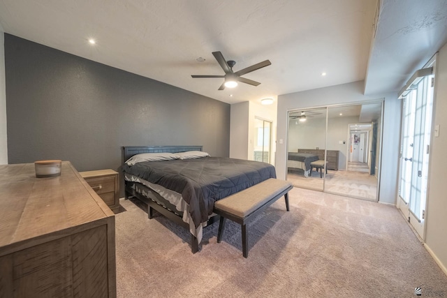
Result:
M150 159L159 154L169 158ZM150 161L133 163L140 156L150 156ZM126 198L145 202L149 218L156 210L187 228L193 253L198 251L203 228L219 219L212 212L216 200L276 178L268 163L207 156L202 146L124 147L122 168Z

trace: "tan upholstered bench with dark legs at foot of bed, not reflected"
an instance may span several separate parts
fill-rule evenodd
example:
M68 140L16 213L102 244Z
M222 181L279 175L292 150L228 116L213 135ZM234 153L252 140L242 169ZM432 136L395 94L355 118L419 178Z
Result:
M214 203L214 213L221 216L217 242L219 243L222 239L226 218L240 223L242 225L242 255L247 258L249 254L247 223L283 195L288 211L288 191L292 188L292 184L287 181L270 178L239 193L234 193L227 198L216 201Z

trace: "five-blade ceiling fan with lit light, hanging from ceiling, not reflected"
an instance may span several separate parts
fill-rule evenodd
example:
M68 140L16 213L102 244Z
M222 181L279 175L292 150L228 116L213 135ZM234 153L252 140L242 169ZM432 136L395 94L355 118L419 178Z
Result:
M221 87L219 87L218 90L223 90L223 89L225 89L225 87L234 88L237 86L237 82L242 82L245 84L258 86L258 84L261 84L260 82L246 79L245 77L241 77L241 75L245 75L246 73L251 73L254 70L258 70L259 68L263 68L263 67L269 66L271 64L269 60L265 60L265 61L259 62L258 64L254 64L247 68L233 72L233 66L235 66L235 64L236 64L235 61L233 61L233 60L226 61L225 58L223 58L223 55L221 52L212 52L212 54L213 54L214 58L216 58L217 62L219 62L221 68L225 72L225 75L191 75L191 77L193 77L193 78L222 77L225 80L224 80L223 84L221 84Z

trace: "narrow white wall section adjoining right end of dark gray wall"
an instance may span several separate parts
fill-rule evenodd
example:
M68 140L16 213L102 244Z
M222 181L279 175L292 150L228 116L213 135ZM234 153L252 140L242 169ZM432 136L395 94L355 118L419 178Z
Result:
M230 158L248 159L249 102L230 106Z

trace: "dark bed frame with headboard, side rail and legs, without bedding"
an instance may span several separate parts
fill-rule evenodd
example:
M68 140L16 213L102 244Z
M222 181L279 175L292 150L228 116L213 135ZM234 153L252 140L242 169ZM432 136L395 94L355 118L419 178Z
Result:
M124 149L124 161L125 163L129 158L134 156L135 154L140 153L160 153L160 152L167 152L167 153L178 153L178 152L184 152L184 151L202 151L203 146L125 146ZM161 195L158 193L152 191L150 188L138 185L139 188L143 188L147 193L149 193L148 196L142 195L141 193L138 193L135 191L135 189L132 187L135 182L131 181L124 181L124 197L127 199L134 197L138 200L145 202L147 204L147 216L149 218L152 218L153 210L158 211L160 214L163 214L163 216L166 216L171 221L177 223L178 225L182 225L182 227L186 228L189 231L189 225L188 223L185 223L182 220L182 214L177 214L173 210L175 210L175 207L170 204L167 200L165 200ZM207 225L211 225L215 221L219 220L219 216L212 216L208 222ZM197 253L199 251L199 245L197 238L191 234L191 251L193 253Z

